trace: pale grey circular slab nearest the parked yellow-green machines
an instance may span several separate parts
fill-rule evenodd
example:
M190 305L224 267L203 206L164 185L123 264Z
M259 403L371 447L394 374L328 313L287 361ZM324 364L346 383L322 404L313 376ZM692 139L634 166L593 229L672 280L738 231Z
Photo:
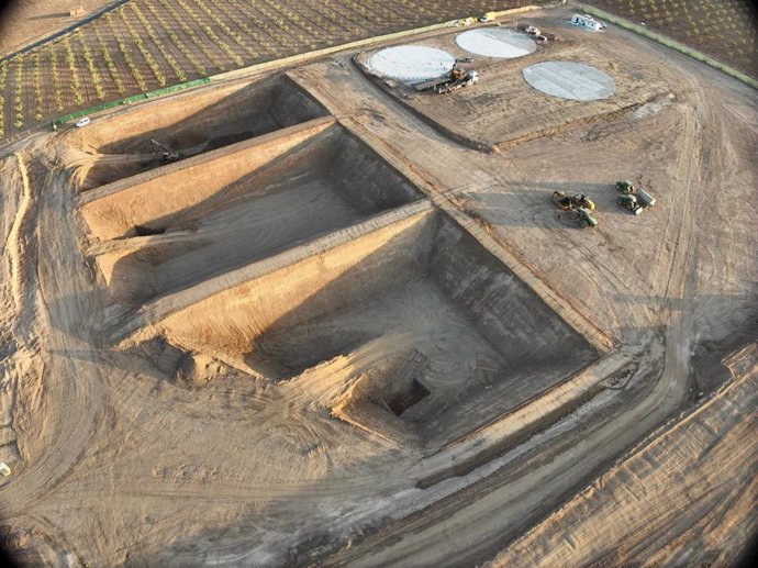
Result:
M575 101L594 101L613 94L616 86L606 73L573 62L545 62L522 71L532 87L553 97Z

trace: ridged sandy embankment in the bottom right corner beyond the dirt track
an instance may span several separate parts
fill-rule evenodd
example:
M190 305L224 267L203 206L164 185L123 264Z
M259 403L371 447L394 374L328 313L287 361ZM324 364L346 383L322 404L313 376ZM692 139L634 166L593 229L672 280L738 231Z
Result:
M758 528L758 343L726 363L736 376L733 383L490 566L729 566L739 560Z

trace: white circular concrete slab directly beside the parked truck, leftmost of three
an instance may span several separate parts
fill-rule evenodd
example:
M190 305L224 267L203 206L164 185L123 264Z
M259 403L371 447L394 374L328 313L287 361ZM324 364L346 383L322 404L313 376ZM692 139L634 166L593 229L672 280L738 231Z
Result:
M449 73L455 57L443 49L423 45L399 45L381 49L366 60L369 70L406 83L434 79Z

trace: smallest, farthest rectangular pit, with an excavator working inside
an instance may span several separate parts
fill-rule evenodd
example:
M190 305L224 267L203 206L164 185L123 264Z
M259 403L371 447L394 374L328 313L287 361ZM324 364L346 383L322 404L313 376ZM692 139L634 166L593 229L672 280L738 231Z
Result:
M161 166L161 151L152 140L185 159L326 115L286 75L171 97L74 133L71 144L91 156L78 160L79 187L92 189Z

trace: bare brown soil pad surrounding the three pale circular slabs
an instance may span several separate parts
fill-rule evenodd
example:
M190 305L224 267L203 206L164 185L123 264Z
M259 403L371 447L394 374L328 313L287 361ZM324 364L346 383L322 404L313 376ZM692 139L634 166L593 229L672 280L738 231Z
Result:
M607 41L605 34L577 30L562 13L543 16L526 13L521 19L536 25L543 33L556 36L557 41L538 44L537 53L527 57L503 60L475 56L472 64L462 65L464 68L476 68L480 76L480 83L472 89L473 92L462 88L438 96L433 91L415 92L413 88L388 88L386 82L378 82L442 132L469 142L473 147L484 148L512 146L580 124L607 121L647 102L673 97L671 90L676 86L660 80L644 65L637 67L634 62L627 62L620 66L616 62L623 54L617 49L623 47ZM455 43L455 35L435 36L426 40L424 45L439 47L457 58L471 55ZM361 54L357 62L363 63L369 55ZM524 88L522 71L525 62L535 65L546 60L581 62L610 74L616 86L615 93L588 104Z

